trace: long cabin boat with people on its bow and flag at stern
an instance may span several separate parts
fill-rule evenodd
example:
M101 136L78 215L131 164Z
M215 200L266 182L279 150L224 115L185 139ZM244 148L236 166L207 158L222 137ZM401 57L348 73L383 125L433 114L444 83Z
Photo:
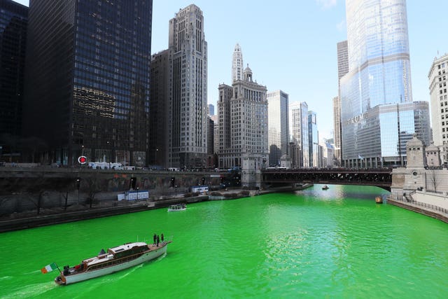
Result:
M82 260L79 265L64 266L64 270L55 278L59 285L74 284L94 277L118 272L153 260L167 252L167 245L172 241L159 244L145 242L126 243L120 246L102 249L97 256ZM58 267L59 269L59 267Z

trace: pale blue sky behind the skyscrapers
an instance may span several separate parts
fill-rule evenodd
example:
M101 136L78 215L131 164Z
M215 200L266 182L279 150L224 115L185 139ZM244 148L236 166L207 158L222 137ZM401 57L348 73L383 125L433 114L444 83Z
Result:
M207 97L215 113L218 85L232 83L232 54L239 43L253 79L268 91L288 93L290 103L307 102L317 114L319 137L332 137L336 44L346 40L344 0L153 0L152 53L168 48L169 20L190 4L204 14ZM430 101L428 71L435 57L448 53L442 13L447 11L447 0L407 0L414 101Z

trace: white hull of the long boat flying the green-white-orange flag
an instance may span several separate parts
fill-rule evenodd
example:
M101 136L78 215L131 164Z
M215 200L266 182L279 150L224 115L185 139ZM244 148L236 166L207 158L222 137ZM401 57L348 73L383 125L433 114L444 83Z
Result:
M74 284L76 282L79 281L84 281L87 279L92 279L95 277L100 277L106 274L111 274L114 272L118 272L120 270L125 270L129 267L134 267L136 265L140 265L141 263L145 263L148 260L153 260L155 258L158 258L159 256L162 256L164 253L167 252L167 244L163 244L163 246L160 246L159 249L155 249L152 251L148 251L144 254L142 254L141 256L139 256L139 258L136 258L134 260L130 260L126 263L120 263L118 265L113 265L113 266L109 266L109 267L104 267L102 269L98 269L98 270L90 270L87 272L80 272L80 273L76 273L76 274L69 274L69 275L63 275L61 274L59 277L61 277L61 280L57 280L57 277L55 279L57 284Z

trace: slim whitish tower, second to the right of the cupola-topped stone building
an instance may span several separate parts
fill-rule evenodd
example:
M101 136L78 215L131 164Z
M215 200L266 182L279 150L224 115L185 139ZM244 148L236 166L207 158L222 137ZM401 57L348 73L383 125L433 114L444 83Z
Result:
M309 167L308 104L289 104L289 132L291 167Z

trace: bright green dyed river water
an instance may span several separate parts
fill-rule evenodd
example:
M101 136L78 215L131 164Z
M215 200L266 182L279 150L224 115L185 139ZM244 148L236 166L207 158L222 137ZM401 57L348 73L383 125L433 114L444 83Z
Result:
M448 298L448 224L379 188L189 204L0 234L0 298ZM69 286L74 265L126 242L172 239L165 256Z

